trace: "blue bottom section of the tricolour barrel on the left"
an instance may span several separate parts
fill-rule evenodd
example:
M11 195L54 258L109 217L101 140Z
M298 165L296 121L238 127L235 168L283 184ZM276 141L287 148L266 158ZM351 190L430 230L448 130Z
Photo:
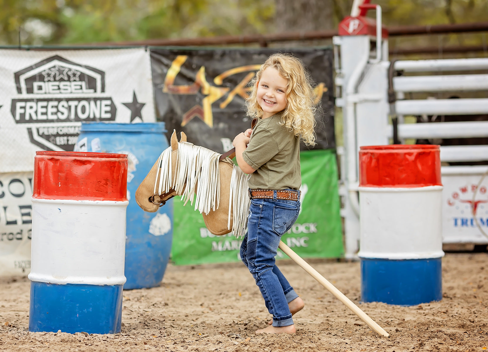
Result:
M29 331L121 331L122 285L31 281Z

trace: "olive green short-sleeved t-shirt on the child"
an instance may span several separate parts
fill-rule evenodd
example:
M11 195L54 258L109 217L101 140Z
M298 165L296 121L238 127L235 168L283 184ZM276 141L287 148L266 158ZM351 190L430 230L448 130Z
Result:
M280 125L281 114L258 119L243 159L256 169L251 189L300 189L300 137Z

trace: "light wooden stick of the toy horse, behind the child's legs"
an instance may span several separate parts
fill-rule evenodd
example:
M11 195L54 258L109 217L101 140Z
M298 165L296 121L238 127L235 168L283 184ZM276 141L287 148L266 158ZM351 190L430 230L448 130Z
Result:
M297 263L299 266L302 267L306 272L308 272L315 280L317 280L322 286L324 286L330 293L332 293L334 296L339 299L342 303L346 305L347 308L349 308L354 314L356 314L358 317L361 318L373 331L376 331L382 336L388 337L389 334L383 330L381 326L376 324L376 322L371 319L364 311L362 311L358 306L356 306L352 301L346 297L344 293L341 291L337 290L334 285L332 285L330 282L328 282L324 276L319 274L319 272L315 269L313 269L310 264L305 262L305 260L302 259L297 253L295 253L291 248L285 245L283 241L280 241L279 248L283 250L283 252L293 259L295 263Z

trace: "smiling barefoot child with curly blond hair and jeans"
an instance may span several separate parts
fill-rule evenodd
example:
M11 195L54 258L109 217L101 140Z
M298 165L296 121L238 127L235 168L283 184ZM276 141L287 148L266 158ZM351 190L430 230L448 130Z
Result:
M303 63L291 55L271 55L251 83L247 115L254 130L234 138L239 167L249 179L251 206L241 258L256 280L270 326L258 333L293 333L292 315L304 301L275 265L281 236L300 210L300 139L315 144L315 107L311 80Z

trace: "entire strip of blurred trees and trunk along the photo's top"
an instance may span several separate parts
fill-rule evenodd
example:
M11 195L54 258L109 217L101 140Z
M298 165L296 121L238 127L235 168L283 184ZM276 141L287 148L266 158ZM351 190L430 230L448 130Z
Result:
M487 0L376 0L386 25L487 21ZM81 44L337 27L352 0L0 0L0 44ZM374 13L371 13L374 16ZM414 41L417 41L416 39Z

